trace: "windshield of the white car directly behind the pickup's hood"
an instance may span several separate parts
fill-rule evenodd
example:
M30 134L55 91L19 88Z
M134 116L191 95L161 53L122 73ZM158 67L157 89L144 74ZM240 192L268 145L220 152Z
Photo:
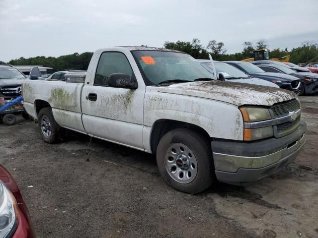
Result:
M212 63L205 62L201 63L203 67L207 68L211 73L213 72ZM215 70L218 74L222 73L226 79L235 79L235 78L248 78L249 76L244 72L240 71L236 67L222 62L214 62Z

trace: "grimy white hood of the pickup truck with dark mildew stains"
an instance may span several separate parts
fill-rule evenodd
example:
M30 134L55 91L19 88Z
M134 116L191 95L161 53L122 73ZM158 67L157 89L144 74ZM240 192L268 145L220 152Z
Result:
M237 82L205 81L158 87L158 92L206 98L241 105L272 106L297 98L291 91Z

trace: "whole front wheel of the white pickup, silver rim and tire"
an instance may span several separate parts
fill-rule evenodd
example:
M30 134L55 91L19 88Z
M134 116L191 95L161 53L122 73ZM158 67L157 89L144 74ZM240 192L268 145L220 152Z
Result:
M209 141L187 128L165 134L157 148L157 165L171 187L196 194L207 189L215 178Z

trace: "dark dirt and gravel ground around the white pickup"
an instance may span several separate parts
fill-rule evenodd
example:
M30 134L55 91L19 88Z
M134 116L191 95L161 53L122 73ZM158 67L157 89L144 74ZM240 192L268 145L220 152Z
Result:
M244 186L189 195L168 187L155 157L71 133L41 140L37 124L0 124L0 163L16 179L40 238L318 237L318 96L302 97L307 142L295 163ZM33 187L28 187L32 185Z

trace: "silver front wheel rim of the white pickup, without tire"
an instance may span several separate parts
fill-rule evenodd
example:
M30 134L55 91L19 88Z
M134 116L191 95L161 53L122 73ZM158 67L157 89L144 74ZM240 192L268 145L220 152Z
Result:
M164 167L169 176L180 183L192 182L198 171L195 155L182 143L173 143L168 147L164 156Z

